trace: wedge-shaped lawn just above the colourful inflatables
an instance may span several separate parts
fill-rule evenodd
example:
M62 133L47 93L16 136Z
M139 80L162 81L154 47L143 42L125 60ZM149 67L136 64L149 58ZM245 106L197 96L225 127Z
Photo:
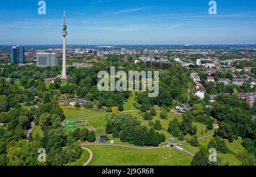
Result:
M81 119L84 117L96 116L106 113L106 111L94 111L87 108L76 109L71 107L63 108L63 112L67 120Z

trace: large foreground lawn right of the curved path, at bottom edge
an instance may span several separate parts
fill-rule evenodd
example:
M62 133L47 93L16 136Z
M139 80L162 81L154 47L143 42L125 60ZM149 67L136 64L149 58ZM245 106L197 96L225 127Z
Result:
M86 147L93 151L89 166L188 166L192 161L191 155L175 149L142 150L100 145Z

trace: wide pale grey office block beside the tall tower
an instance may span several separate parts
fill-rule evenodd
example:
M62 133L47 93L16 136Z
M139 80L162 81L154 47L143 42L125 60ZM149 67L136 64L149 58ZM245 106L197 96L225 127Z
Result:
M57 53L36 53L36 66L47 67L57 66L58 57Z

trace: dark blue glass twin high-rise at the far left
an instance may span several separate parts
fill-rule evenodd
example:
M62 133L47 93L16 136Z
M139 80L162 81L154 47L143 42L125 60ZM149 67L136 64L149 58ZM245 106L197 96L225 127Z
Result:
M15 65L25 63L24 47L14 46L11 48L11 63Z

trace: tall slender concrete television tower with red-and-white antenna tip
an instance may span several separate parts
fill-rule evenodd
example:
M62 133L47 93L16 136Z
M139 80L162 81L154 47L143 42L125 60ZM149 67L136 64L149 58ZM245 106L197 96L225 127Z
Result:
M62 77L63 79L67 78L67 71L66 71L66 36L68 34L67 30L67 26L66 26L66 13L64 10L64 22L63 22L63 26L62 26L62 36L63 36L63 64L62 64Z

